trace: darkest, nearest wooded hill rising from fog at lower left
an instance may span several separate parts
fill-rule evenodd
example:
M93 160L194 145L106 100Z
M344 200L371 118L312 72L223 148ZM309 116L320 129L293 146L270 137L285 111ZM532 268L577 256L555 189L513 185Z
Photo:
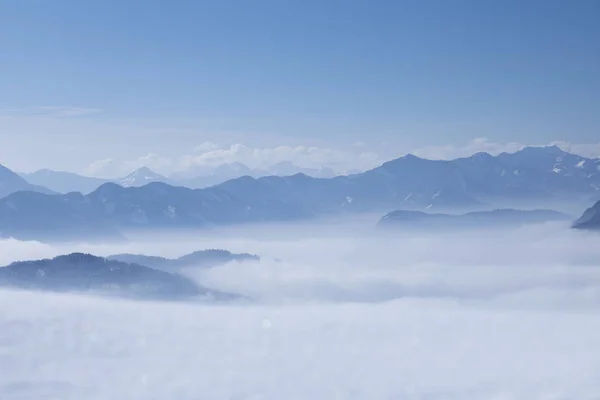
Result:
M178 274L82 253L53 259L15 262L2 267L0 286L147 299L225 296L217 291L202 288Z

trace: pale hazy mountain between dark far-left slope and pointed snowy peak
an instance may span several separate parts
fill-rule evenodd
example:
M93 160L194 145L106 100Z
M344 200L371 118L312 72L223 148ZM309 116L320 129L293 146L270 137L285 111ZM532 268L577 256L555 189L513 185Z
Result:
M100 185L109 182L107 179L92 178L65 171L41 169L29 174L21 174L29 183L47 187L57 193L80 192L89 193Z

